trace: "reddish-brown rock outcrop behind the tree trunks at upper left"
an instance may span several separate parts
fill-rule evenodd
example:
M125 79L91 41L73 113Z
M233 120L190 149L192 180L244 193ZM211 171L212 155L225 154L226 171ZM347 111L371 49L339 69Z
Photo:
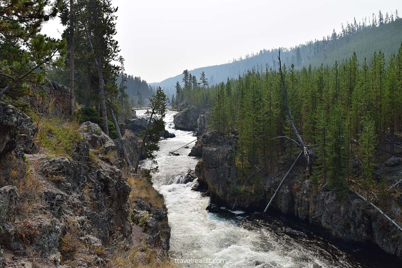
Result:
M21 99L29 103L35 113L59 116L70 111L70 89L56 82L32 87L31 95Z

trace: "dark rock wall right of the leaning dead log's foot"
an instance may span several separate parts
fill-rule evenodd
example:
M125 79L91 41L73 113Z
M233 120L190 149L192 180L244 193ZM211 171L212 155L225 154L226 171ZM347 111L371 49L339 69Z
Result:
M400 232L393 230L384 216L375 213L356 196L352 196L351 201L345 201L326 187L317 189L312 183L296 181L294 186L283 186L277 197L275 207L283 214L318 226L337 239L375 243L388 254L402 258ZM392 205L387 213L398 222L401 212Z

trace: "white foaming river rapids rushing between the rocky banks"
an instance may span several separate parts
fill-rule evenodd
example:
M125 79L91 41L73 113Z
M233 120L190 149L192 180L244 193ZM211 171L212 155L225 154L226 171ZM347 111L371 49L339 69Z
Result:
M144 112L137 111L137 115ZM160 141L156 153L159 172L152 180L168 208L170 256L176 262L193 259L193 263L183 264L185 267L402 267L400 260L378 248L334 245L303 225L275 216L207 212L209 198L191 190L195 182L178 183L180 175L194 170L198 159L188 157L196 138L174 129L175 113L168 111L165 128L176 137ZM169 154L189 142L189 148L178 150L179 156ZM196 263L200 261L203 263Z

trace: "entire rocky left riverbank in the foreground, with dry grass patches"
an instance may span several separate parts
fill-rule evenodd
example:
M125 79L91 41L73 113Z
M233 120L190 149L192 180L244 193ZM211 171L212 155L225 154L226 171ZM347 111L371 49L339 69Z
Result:
M47 118L36 126L0 103L0 267L167 260L164 198L146 171L126 168L121 142L91 122ZM135 159L139 142L131 130L123 142Z

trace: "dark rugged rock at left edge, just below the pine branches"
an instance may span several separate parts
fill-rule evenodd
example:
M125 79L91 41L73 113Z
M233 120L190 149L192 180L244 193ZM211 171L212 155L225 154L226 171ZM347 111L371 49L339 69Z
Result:
M21 146L25 153L36 153L32 142L36 131L32 118L0 101L0 158L17 146Z

